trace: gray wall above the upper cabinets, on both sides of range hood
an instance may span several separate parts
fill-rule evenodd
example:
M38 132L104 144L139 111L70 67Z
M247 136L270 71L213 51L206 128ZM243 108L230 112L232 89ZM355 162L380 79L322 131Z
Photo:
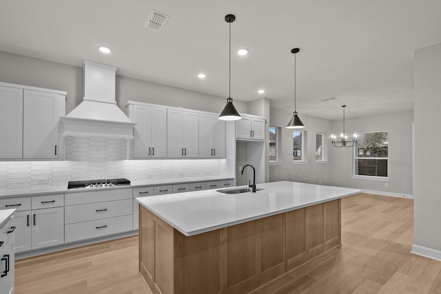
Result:
M66 114L83 101L82 67L0 51L0 68L1 82L67 91ZM116 76L116 103L124 110L129 100L206 112L220 112L227 103L227 97ZM247 112L247 103L234 100L234 105Z

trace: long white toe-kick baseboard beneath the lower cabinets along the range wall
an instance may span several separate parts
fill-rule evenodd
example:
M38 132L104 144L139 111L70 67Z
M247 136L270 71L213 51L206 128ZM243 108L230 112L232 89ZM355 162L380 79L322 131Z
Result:
M132 235L138 235L138 230L127 231L127 232L118 233L115 235L107 235L107 236L83 240L83 241L79 241L79 242L65 243L65 244L60 244L60 245L52 246L52 247L46 247L46 248L42 248L42 249L23 251L23 252L15 253L15 260L21 260L23 258L32 258L33 256L62 251L62 250L66 250L66 249L72 249L72 248L79 247L79 246L121 239L121 238L125 238L125 237L130 237Z

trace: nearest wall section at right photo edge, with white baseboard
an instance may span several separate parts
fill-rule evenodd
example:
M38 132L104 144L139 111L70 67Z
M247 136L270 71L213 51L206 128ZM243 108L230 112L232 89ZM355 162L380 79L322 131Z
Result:
M413 252L441 260L441 43L415 54L415 231Z

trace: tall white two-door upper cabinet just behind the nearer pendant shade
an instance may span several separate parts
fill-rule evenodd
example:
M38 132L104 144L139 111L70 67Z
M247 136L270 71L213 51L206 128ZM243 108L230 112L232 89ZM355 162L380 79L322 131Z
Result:
M225 125L218 115L199 114L199 157L225 158Z

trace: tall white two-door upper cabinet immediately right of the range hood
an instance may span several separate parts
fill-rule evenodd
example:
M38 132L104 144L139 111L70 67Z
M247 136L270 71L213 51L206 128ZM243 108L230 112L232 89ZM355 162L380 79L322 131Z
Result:
M147 105L129 105L134 123L133 158L167 157L167 109Z

